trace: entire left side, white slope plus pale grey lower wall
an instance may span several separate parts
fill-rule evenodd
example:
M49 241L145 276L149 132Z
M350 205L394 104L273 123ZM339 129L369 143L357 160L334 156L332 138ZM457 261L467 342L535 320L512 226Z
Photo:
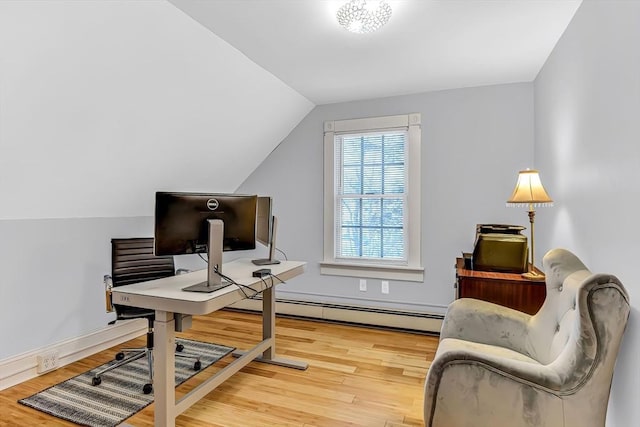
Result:
M0 359L104 327L110 238L156 190L235 191L311 108L164 0L0 1Z

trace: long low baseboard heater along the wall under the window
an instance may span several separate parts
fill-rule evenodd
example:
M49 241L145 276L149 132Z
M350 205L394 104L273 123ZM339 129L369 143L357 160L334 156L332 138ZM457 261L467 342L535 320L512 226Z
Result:
M245 299L230 309L262 311L262 301L260 298ZM444 318L440 314L279 298L276 299L276 314L436 335L440 333Z

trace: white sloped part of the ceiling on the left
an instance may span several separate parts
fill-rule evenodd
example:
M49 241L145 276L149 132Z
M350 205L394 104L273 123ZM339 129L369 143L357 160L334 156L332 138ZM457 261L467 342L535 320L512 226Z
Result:
M0 219L235 191L313 108L162 1L0 2Z

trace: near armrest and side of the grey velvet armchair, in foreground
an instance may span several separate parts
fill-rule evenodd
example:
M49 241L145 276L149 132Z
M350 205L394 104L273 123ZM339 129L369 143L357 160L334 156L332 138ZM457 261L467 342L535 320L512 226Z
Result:
M555 370L514 350L445 338L425 380L425 426L561 425L561 382Z

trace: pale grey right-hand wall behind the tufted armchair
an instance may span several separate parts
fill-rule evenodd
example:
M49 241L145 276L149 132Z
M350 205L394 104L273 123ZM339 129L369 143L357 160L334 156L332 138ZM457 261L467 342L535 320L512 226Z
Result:
M640 419L640 2L585 1L535 81L535 160L556 200L542 249L566 247L612 273L632 306L607 426ZM548 212L547 212L548 211Z

